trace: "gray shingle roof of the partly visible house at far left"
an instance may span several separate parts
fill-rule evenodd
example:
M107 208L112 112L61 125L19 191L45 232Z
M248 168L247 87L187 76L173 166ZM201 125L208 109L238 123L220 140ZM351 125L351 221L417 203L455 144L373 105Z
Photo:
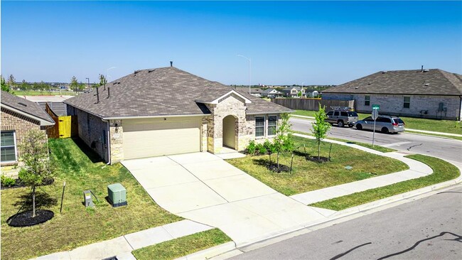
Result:
M23 99L22 97L17 97L14 94L1 91L1 104L55 124L55 121L51 119L51 117L40 107L39 104Z

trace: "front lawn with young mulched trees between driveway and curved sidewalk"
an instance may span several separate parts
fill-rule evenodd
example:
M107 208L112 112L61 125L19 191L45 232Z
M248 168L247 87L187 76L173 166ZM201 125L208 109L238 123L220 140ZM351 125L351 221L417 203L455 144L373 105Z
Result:
M303 144L305 144L306 152L317 156L318 146L315 140L294 136L294 141L299 153L303 153ZM330 146L330 143L321 145L321 156L328 157ZM272 155L272 160L276 160L276 154ZM246 156L227 162L288 196L408 169L401 161L335 143L332 145L331 161L327 163L306 161L303 155L294 156L292 173L274 173L268 170L266 166L269 163L269 156L267 155ZM279 163L286 166L290 166L290 162L289 154L282 155L279 159ZM345 166L353 168L347 170Z

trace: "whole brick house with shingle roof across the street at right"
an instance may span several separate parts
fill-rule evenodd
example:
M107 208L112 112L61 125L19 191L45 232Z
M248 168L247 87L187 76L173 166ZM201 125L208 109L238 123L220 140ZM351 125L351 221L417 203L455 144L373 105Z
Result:
M358 112L461 120L462 75L439 69L381 71L323 91L323 99L355 100Z

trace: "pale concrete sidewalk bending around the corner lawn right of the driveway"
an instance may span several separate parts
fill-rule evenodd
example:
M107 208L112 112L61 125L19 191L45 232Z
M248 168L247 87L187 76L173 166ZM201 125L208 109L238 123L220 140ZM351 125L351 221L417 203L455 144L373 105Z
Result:
M313 136L306 136L303 134L294 134L294 136L300 136L307 139L314 139ZM421 163L419 161L415 161L409 158L404 157L406 154L404 153L382 153L380 151L375 151L370 148L365 148L364 146L358 146L353 143L345 143L335 140L324 139L324 141L330 143L338 143L345 146L350 146L362 151L366 151L367 153L374 153L380 156L386 156L390 158L397 159L406 163L409 166L409 170L402 170L397 173L390 173L387 175L377 176L374 178L368 178L365 180L358 180L353 183L345 183L342 185L337 185L333 187L323 188L320 190L313 190L308 193L300 193L296 195L290 196L296 201L303 203L304 205L309 205L311 203L320 202L323 200L330 200L334 197L341 197L345 195L350 195L353 193L359 193L364 190L370 190L373 188L379 188L383 186L387 186L393 183L400 183L404 180L411 180L414 178L420 178L426 175L433 173L433 170L425 163Z

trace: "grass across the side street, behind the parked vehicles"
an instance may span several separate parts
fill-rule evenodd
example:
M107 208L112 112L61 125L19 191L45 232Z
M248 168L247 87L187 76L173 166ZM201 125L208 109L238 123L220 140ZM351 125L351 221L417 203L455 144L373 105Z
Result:
M306 117L314 117L316 111L296 110L292 114L298 114ZM380 114L380 112L379 112ZM360 120L369 117L370 114L358 113ZM457 121L452 120L439 120L439 119L421 119L414 117L400 117L406 124L406 128L437 131L449 134L462 134L462 123L457 124Z

